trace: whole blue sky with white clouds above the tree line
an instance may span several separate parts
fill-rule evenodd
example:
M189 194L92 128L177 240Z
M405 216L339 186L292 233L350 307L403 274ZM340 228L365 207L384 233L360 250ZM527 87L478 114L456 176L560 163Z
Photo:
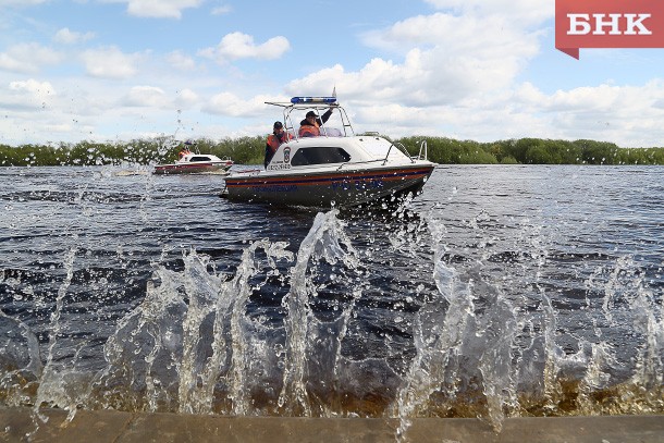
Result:
M554 47L554 0L0 0L0 144L357 133L664 146L664 49ZM303 115L304 118L304 115Z

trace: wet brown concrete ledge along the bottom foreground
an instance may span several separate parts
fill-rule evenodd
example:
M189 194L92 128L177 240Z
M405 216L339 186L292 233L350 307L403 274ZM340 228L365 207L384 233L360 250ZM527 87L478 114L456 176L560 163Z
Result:
M396 442L398 419L223 417L45 409L44 423L26 408L0 409L0 442L181 443L181 442ZM36 426L38 424L38 426ZM664 416L509 418L503 430L477 419L418 418L407 442L436 443L662 443Z

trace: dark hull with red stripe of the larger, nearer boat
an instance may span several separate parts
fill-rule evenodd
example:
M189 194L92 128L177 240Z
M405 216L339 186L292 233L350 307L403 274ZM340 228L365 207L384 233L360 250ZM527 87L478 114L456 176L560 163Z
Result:
M315 207L352 207L418 193L434 165L226 177L224 197Z

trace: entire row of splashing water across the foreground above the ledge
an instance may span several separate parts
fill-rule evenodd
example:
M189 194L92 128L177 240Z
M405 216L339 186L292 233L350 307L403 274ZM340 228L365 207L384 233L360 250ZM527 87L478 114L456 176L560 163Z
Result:
M565 288L551 283L557 253L545 233L536 223L502 253L491 223L481 212L468 223L468 245L455 250L432 217L376 223L367 239L331 211L316 217L296 256L285 243L260 239L243 248L232 274L195 250L170 270L164 253L145 298L106 342L107 367L96 374L65 370L77 350L59 354L65 294L76 284L71 249L41 372L38 334L0 316L21 332L5 334L12 345L29 355L2 373L0 399L35 410L386 415L402 419L403 439L415 417L480 417L500 430L511 416L664 410L662 295L639 262L618 256L582 270L573 295L589 312L574 319L593 321L575 329L566 317L574 308L561 307ZM496 266L496 257L509 261ZM388 260L401 280L380 280ZM418 287L409 286L411 262L431 270ZM388 288L374 291L376 281ZM612 331L630 334L631 360Z

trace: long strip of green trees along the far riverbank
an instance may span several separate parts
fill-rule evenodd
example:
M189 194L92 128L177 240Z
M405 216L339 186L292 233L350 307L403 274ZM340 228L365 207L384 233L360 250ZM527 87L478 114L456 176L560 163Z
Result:
M410 155L427 141L429 160L441 164L664 164L664 148L620 148L594 140L507 139L491 143L446 137L392 139ZM194 140L194 150L229 157L238 164L262 164L263 136ZM172 137L130 141L79 141L59 145L0 144L0 167L158 164L177 158L183 143Z

